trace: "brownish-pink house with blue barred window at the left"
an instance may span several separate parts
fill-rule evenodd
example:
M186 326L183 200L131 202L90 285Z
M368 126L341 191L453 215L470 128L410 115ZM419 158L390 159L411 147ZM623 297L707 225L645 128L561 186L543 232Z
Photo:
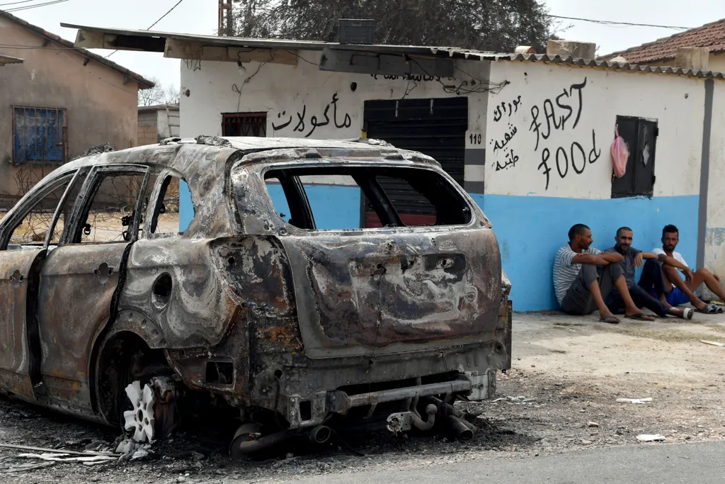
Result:
M88 147L137 144L154 83L0 10L0 209Z

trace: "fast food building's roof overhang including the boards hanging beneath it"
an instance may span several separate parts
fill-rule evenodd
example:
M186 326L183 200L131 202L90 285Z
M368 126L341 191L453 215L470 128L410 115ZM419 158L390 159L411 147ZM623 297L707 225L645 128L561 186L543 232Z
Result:
M494 62L544 62L634 73L725 78L722 73L713 71L694 71L669 66L637 65L628 62L579 59L559 55L501 54L460 49L459 47L339 44L277 38L199 36L152 30L89 27L67 23L61 25L66 28L78 29L75 39L76 47L163 52L165 57L186 60L273 62L297 65L297 60L300 58L298 52L306 50L322 52L319 62L320 70L350 73L452 77L455 69L453 60L460 59Z

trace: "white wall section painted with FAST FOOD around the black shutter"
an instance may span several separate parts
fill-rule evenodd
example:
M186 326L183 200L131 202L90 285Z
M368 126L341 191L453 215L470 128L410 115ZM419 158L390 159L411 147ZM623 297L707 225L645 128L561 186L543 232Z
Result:
M486 194L610 198L610 144L617 115L658 120L655 197L699 192L702 80L543 62L497 62L491 79L510 84L489 99ZM505 104L505 112L497 111L500 103ZM534 123L535 112L538 123ZM552 113L548 119L547 112ZM497 148L497 144L505 146ZM572 146L576 165L572 165ZM515 164L510 164L512 153ZM549 155L548 189L541 165L545 153ZM557 153L564 177L557 167Z

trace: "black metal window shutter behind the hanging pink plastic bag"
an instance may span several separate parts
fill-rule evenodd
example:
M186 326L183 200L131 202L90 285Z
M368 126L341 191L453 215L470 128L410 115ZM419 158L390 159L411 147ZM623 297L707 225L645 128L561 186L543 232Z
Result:
M624 176L612 179L612 198L651 197L655 185L657 121L617 116L617 127L629 147L629 158Z

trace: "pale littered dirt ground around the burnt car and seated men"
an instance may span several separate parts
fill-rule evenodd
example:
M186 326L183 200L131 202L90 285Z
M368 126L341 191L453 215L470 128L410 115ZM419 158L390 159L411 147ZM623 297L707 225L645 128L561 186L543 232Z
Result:
M517 314L513 369L497 399L459 403L478 427L473 440L440 436L348 438L311 454L236 463L225 430L202 427L152 448L149 456L87 467L80 462L17 471L22 451L0 448L4 483L274 483L322 473L406 469L468 459L515 459L580 448L725 438L725 315L692 322L658 319L600 324L596 316ZM642 404L617 398L652 398ZM473 417L476 416L476 417ZM228 427L228 425L227 425ZM0 398L0 443L83 451L112 446L120 432ZM641 443L639 445L663 445Z

